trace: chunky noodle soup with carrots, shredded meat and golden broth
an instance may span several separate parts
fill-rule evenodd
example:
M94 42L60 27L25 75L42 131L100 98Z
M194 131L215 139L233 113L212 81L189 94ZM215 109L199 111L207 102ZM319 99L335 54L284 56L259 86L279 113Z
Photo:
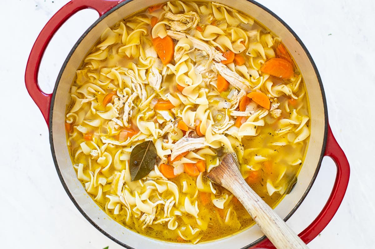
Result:
M309 137L302 75L279 37L219 3L171 1L108 27L66 109L73 167L113 219L154 239L198 243L254 224L206 174L234 152L275 207Z

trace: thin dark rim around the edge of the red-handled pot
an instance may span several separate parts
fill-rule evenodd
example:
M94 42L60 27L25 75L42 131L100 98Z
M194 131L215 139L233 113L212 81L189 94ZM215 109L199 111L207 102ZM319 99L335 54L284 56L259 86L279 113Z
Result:
M53 93L52 93L52 98L51 98L51 105L49 107L49 127L50 127L50 130L49 130L49 143L51 145L51 153L52 153L52 158L53 158L53 161L54 161L54 164L55 164L55 168L56 168L56 171L57 171L57 174L58 174L58 177L60 178L60 181L66 191L66 193L68 194L69 198L72 200L72 202L74 203L75 207L77 207L77 209L80 211L80 213L84 216L84 218L87 219L87 221L89 221L96 229L98 229L102 234L104 234L105 236L107 236L108 238L110 238L111 240L113 240L114 242L116 242L117 244L123 246L124 248L127 248L127 249L134 249L132 248L131 246L128 246L126 244L124 244L123 242L115 239L114 237L112 237L110 234L108 234L106 231L104 231L101 227L99 227L92 219L90 219L89 216L86 215L86 213L84 212L83 209L81 209L81 207L78 205L77 201L74 199L73 195L71 194L71 192L69 191L69 188L68 186L66 185L64 179L63 179L63 176L61 174L61 171L60 171L60 168L58 167L58 163L57 163L57 159L56 159L56 153L55 153L55 148L54 148L54 142L53 142L53 136L52 136L52 116L53 116L53 106L54 106L54 102L55 102L55 96L56 96L56 92L57 92L57 87L58 87L58 83L60 82L60 79L61 79L61 76L65 70L65 67L66 67L66 64L68 64L68 61L70 60L72 54L74 53L75 49L77 49L78 45L81 43L81 41L86 37L86 35L99 23L101 22L105 17L107 17L108 15L110 15L112 12L114 12L115 10L119 9L120 7L122 7L123 5L129 3L130 1L134 1L134 0L125 0L119 4L117 4L116 6L114 6L112 9L108 10L106 13L104 13L102 16L100 16L83 34L82 36L80 37L80 39L78 39L78 41L75 43L75 45L73 46L72 50L69 52L68 56L66 57L64 63L63 63L63 66L61 67L61 70L60 72L58 73L58 76L57 76L57 80L56 80L56 83L55 83L55 87L54 87L54 90L53 90ZM309 193L310 189L311 189L311 186L312 184L314 183L315 179L317 178L317 174L320 170L320 166L321 166L321 163L322 163L322 160L323 160L323 157L324 157L324 152L326 151L326 144L327 144L327 133L328 133L328 111L327 111L327 101L326 101L326 95L324 94L324 89L323 89L323 83L322 83L322 80L320 78L320 75L319 75L319 72L318 72L318 69L317 69L317 66L315 65L314 63L314 60L312 59L309 51L307 50L306 46L303 44L302 40L297 36L297 34L289 27L288 24L286 24L278 15L276 15L275 13L273 13L271 10L269 10L268 8L264 7L262 4L260 3L257 3L256 1L254 0L246 0L246 1L249 1L251 2L252 4L255 4L256 6L266 10L268 13L270 13L274 18L276 18L279 22L281 22L282 25L284 25L284 27L286 27L288 29L288 31L294 36L294 38L296 38L297 42L302 46L303 48L303 51L305 51L307 57L309 58L309 61L312 65L312 67L314 68L314 71L315 71L315 74L317 76L317 79L318 79L318 82L319 82L319 86L320 86L320 91L321 91L321 94L322 94L322 100L323 100L323 108L324 108L324 138L323 138L323 146L322 146L322 150L321 150L321 153L320 153L320 158L319 158L319 161L318 161L318 165L317 165L317 169L315 170L315 173L314 173L314 176L312 177L312 180L308 186L308 188L306 189L305 193L302 195L302 198L298 201L298 203L296 204L296 206L294 206L294 208L291 210L291 212L285 217L284 221L287 221L290 216L293 215L294 212L296 212L297 208L301 205L302 201L305 200L306 198L306 195ZM256 244L258 244L259 242L261 242L262 240L266 239L266 236L263 236L261 237L260 239L258 240L255 240L254 242L250 243L249 245L247 246L244 246L242 249L245 249L245 248L251 248L252 246L255 246ZM209 242L208 242L209 243Z

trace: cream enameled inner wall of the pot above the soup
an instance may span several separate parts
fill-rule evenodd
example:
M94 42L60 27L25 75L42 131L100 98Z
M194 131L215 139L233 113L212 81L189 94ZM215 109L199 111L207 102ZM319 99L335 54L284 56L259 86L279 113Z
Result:
M87 32L81 37L80 41L73 48L70 57L62 68L54 90L54 97L51 104L51 149L54 154L54 160L60 179L68 192L69 196L75 202L76 206L86 216L89 221L108 237L115 240L126 247L132 248L243 248L251 245L261 237L260 229L257 225L224 239L216 240L208 243L197 245L176 244L162 242L141 236L133 231L128 230L122 225L114 221L86 193L77 174L72 167L71 158L69 156L66 145L66 134L64 128L66 104L69 101L69 89L75 76L75 71L80 66L81 61L95 43L99 39L102 32L107 27L111 27L120 19L136 12L144 7L160 3L160 0L150 1L125 1L114 7L107 14L102 16ZM218 0L217 2L226 4L234 9L241 10L249 14L261 24L272 30L276 35L281 37L284 45L291 52L296 60L302 76L306 83L309 95L309 106L311 108L311 136L308 145L305 162L300 171L298 182L281 203L275 208L276 213L281 218L287 218L294 212L297 205L303 200L306 191L315 179L318 167L320 166L322 149L324 145L324 134L326 127L326 115L324 106L324 97L322 96L321 85L318 80L317 73L314 70L308 55L303 49L298 39L293 33L285 27L281 21L274 15L267 12L258 4L247 0ZM296 231L299 233L300 231Z

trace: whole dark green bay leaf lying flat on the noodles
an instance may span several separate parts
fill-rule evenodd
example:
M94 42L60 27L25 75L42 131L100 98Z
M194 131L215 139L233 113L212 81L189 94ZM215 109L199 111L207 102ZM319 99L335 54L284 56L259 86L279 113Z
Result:
M140 143L133 148L130 153L129 165L132 181L147 176L154 169L156 156L156 148L151 140Z

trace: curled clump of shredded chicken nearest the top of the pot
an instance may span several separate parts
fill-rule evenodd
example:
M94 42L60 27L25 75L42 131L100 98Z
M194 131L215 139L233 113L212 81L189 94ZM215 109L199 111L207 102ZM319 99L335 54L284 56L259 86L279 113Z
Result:
M168 12L164 16L166 19L172 20L169 22L171 30L183 31L189 28L195 28L199 21L199 16L196 12L189 11L184 14L173 14Z

